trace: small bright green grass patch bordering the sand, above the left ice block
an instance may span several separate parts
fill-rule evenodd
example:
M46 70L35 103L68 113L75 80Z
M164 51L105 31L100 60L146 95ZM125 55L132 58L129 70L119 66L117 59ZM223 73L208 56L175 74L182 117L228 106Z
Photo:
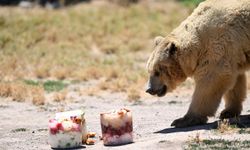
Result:
M44 90L47 92L61 91L66 86L62 81L48 80L43 83Z

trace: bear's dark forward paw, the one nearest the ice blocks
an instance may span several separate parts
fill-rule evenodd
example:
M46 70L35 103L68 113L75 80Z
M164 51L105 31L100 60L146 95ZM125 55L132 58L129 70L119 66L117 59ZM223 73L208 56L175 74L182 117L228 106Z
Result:
M176 128L184 128L195 125L202 125L207 122L207 117L197 117L197 116L184 116L183 118L176 119L171 126Z

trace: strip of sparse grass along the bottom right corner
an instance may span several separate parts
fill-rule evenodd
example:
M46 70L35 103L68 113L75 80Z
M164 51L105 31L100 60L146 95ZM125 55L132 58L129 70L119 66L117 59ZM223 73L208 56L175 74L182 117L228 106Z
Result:
M206 139L201 142L190 142L185 147L186 150L238 150L238 149L249 149L249 140L224 140L224 139Z

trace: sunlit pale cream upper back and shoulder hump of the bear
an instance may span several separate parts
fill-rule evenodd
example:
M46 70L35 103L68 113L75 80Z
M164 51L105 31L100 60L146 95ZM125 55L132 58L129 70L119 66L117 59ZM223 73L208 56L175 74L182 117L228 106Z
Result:
M171 33L181 45L207 43L228 36L250 42L250 0L207 0ZM200 41L202 40L202 41ZM204 46L204 45L203 45Z

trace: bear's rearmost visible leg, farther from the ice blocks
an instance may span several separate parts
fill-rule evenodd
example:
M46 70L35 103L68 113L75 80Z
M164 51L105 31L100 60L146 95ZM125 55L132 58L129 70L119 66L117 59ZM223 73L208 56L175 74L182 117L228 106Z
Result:
M240 115L242 102L246 98L246 75L240 74L233 87L224 95L225 109L221 112L220 118L232 118Z

